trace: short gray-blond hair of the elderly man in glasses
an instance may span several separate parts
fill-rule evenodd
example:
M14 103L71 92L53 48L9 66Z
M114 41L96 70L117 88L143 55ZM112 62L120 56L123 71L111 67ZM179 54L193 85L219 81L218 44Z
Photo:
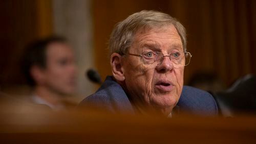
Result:
M139 30L161 28L168 25L173 25L177 29L183 51L186 51L186 30L178 20L162 12L143 10L116 24L109 40L110 55L113 53L126 54Z

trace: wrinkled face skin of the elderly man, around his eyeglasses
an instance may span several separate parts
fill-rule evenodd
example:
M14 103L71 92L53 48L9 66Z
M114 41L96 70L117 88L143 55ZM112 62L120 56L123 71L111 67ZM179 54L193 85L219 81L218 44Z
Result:
M145 51L161 52L165 56L183 52L176 28L169 25L137 32L129 53L140 55ZM144 64L141 57L124 55L121 67L124 80L117 81L139 109L153 108L164 114L172 112L181 95L184 66L174 67L169 57L163 57L157 65L156 62Z

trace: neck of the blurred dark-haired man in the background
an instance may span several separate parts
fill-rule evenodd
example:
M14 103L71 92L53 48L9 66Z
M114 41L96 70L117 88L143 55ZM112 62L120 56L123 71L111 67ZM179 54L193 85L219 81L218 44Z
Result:
M34 93L41 99L44 99L45 101L47 101L48 103L54 106L62 105L61 104L62 95L53 90L50 90L47 87L36 86L34 89Z

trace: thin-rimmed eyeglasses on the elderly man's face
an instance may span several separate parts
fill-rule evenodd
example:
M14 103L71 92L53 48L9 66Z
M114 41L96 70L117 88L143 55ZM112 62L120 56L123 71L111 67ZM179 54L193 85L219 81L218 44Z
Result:
M141 55L136 55L136 54L130 54L132 56L138 56L141 57L141 60L144 64L153 64L156 62L157 65L160 65L163 61L164 57L169 57L170 61L173 62L174 67L182 67L186 66L190 62L190 58L192 55L189 52L175 52L170 55L164 56L160 52L143 52Z

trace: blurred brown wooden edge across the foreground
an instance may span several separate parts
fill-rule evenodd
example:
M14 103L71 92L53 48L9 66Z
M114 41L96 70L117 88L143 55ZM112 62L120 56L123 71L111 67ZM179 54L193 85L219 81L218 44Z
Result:
M256 143L256 117L0 110L0 143Z

